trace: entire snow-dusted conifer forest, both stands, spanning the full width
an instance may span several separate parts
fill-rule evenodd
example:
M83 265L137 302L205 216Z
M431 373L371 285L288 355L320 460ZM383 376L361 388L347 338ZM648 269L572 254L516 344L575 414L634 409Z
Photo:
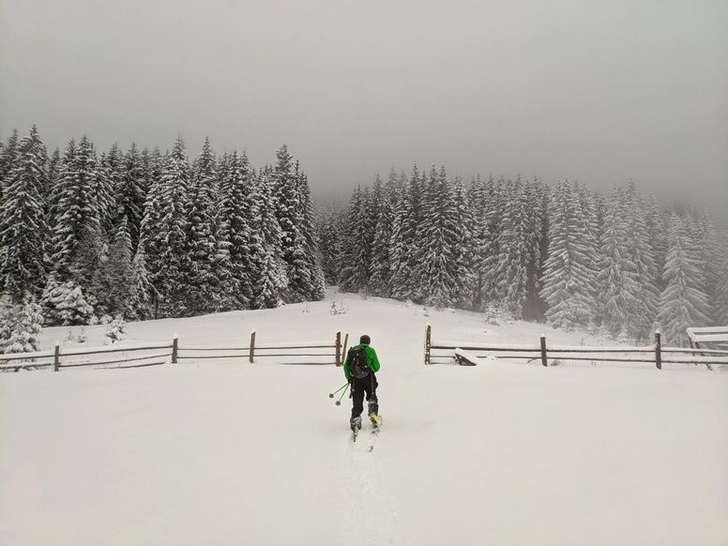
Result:
M41 324L270 308L326 284L625 342L728 323L725 226L633 183L465 183L415 166L314 208L286 146L263 167L181 137L165 152L84 136L48 153L35 127L0 141L0 180L7 352L30 350Z

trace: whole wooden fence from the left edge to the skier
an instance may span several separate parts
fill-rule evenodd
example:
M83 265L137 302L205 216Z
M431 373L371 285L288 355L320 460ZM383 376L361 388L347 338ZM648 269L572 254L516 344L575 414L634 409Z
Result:
M346 335L348 341L349 334ZM256 333L250 334L247 346L180 346L175 335L172 343L118 344L109 347L61 347L56 344L50 351L0 355L0 371L21 369L53 369L80 367L141 368L166 363L177 364L181 360L247 359L251 364L256 358L275 358L281 364L340 366L346 341L342 347L341 332L336 332L333 343L256 344ZM111 356L107 356L111 355Z

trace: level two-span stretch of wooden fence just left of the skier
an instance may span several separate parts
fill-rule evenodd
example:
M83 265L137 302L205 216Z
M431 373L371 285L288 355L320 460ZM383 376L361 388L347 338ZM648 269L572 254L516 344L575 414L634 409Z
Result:
M256 332L250 333L248 345L195 345L180 346L175 338L172 362L179 360L246 359L253 364L256 358L275 358L280 364L341 365L341 332L336 332L333 343L299 342L256 344Z

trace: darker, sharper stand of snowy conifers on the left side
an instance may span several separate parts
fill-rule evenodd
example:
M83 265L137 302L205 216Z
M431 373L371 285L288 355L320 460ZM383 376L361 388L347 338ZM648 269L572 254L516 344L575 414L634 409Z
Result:
M0 142L0 292L47 325L183 317L323 298L308 179L205 140L48 154L36 127Z

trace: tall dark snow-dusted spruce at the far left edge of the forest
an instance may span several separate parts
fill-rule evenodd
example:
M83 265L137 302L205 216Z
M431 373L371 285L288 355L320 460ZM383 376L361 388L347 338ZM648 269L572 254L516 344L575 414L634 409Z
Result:
M0 286L14 301L25 294L39 296L45 285L43 253L48 231L42 192L46 164L45 147L33 126L20 141L0 207Z

